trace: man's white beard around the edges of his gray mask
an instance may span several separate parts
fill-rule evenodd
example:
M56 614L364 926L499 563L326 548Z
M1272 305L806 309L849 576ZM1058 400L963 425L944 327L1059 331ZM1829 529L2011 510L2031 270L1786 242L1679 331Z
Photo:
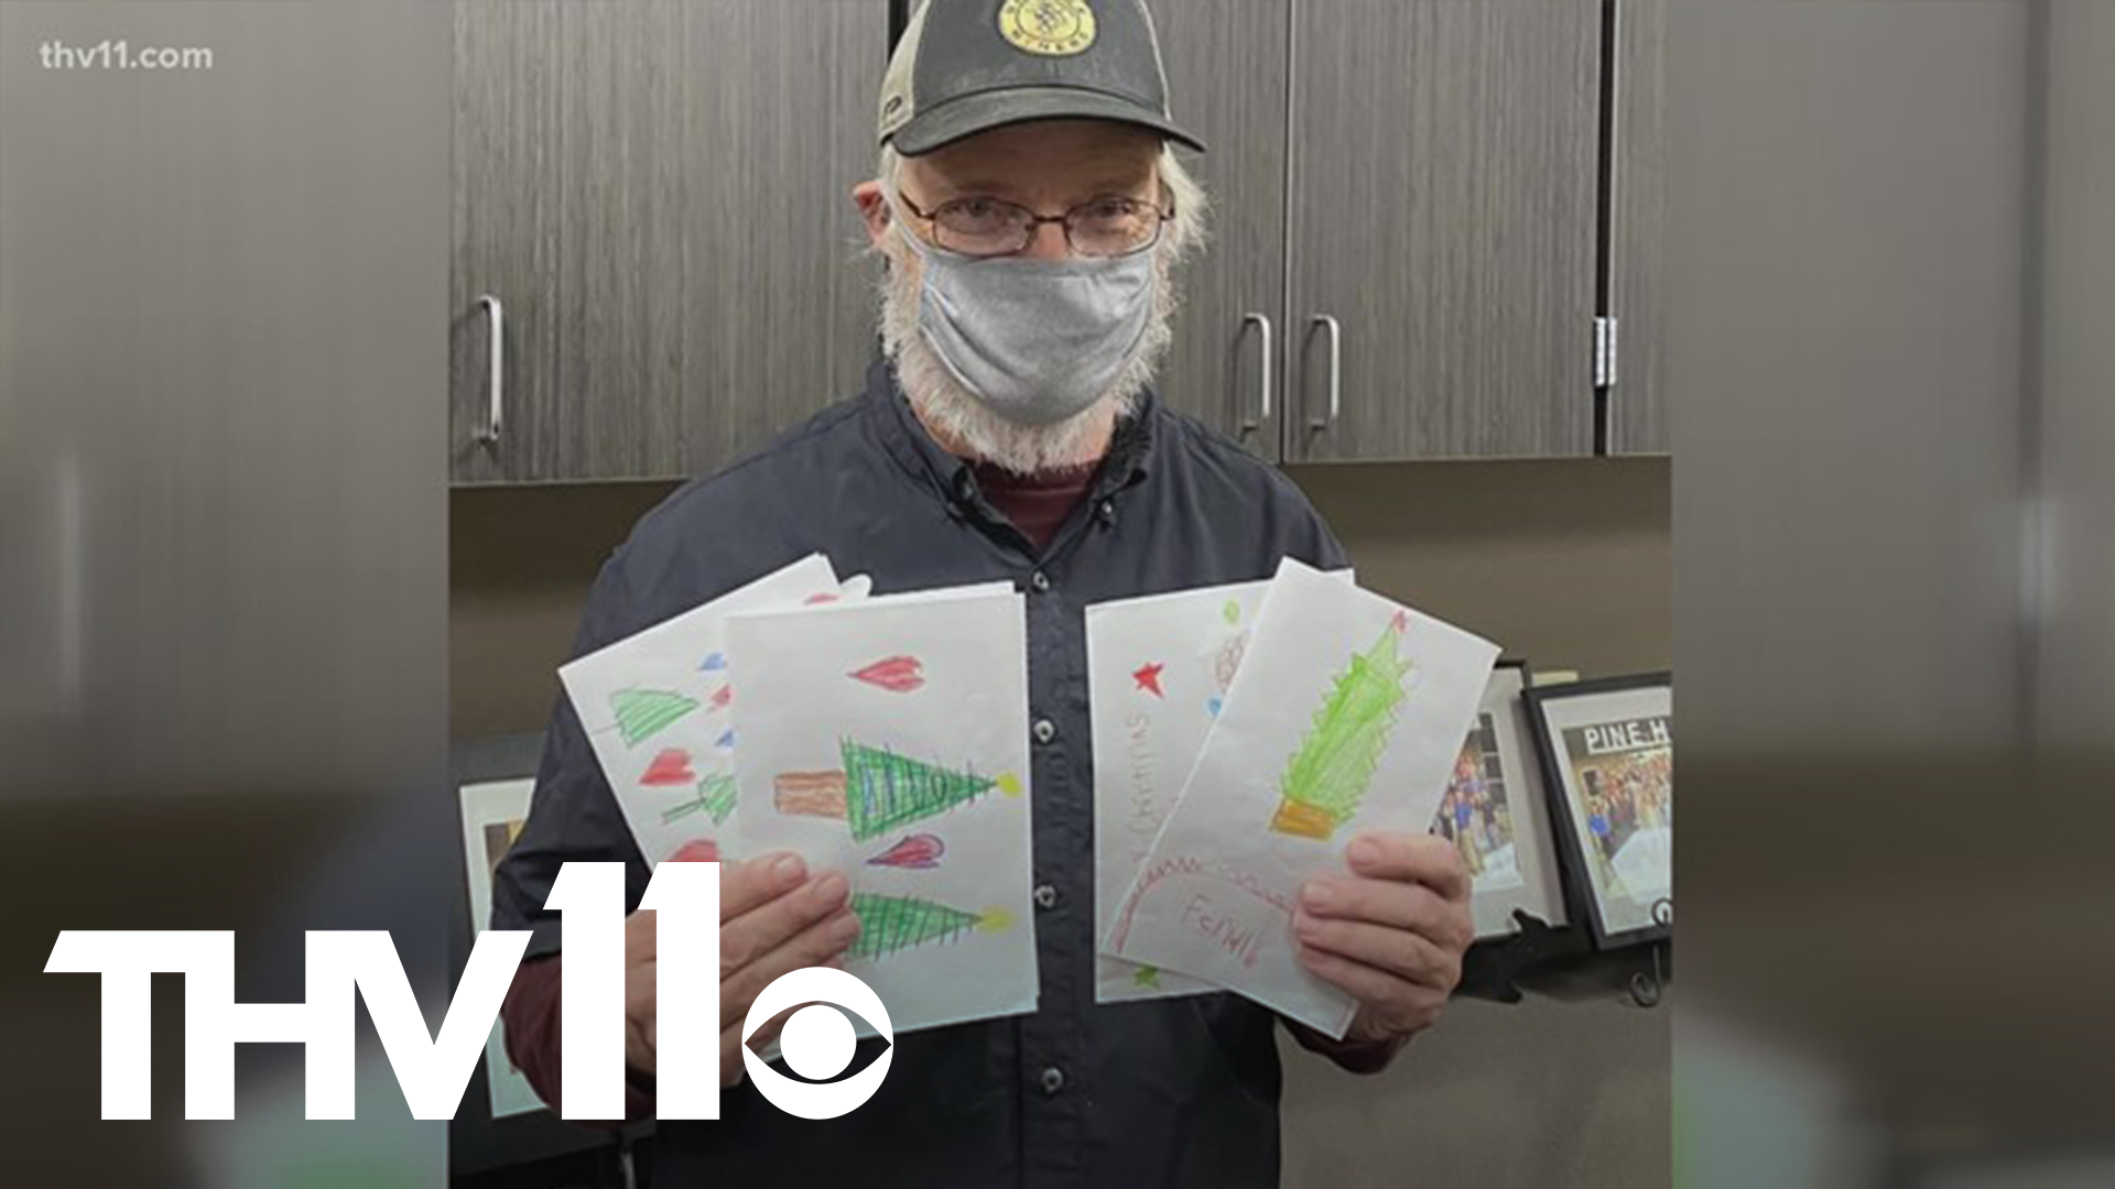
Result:
M1096 461L1117 421L1129 417L1174 341L1176 288L1165 250L1153 260L1153 313L1123 370L1085 410L1051 425L1017 425L992 413L954 379L918 330L918 258L888 228L882 275L882 349L918 419L948 446L1013 474L1045 474Z

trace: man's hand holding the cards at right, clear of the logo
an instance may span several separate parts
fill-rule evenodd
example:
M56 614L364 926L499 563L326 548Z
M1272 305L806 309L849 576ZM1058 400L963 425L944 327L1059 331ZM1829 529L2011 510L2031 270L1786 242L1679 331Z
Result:
M1349 1041L1430 1028L1476 937L1461 855L1423 834L1364 834L1349 876L1307 880L1292 916L1301 965L1358 999Z

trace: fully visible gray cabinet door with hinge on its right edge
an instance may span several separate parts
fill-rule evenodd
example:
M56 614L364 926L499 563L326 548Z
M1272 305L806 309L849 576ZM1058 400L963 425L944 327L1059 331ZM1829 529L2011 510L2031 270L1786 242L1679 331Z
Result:
M1601 6L1328 0L1292 25L1286 457L1590 453Z

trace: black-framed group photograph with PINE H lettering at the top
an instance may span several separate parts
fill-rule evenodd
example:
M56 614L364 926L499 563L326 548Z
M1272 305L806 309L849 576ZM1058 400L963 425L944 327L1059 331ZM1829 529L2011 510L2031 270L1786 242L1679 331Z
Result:
M1597 948L1667 937L1673 903L1675 683L1669 673L1523 694L1565 867Z

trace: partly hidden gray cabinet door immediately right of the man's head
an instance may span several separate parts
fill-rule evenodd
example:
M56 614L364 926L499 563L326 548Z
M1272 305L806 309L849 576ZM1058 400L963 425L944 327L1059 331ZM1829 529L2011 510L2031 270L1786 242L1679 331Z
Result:
M1212 201L1210 241L1176 277L1182 307L1159 394L1275 461L1286 366L1292 6L1290 0L1157 0L1153 19L1176 121L1210 148L1182 157Z

